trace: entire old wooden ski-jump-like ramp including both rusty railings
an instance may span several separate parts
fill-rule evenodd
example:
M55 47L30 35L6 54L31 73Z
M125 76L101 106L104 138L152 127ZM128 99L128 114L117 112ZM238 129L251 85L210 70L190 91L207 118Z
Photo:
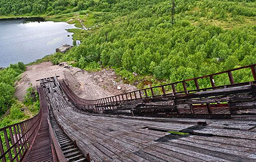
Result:
M255 67L98 100L57 76L41 79L40 112L0 129L0 160L255 162Z

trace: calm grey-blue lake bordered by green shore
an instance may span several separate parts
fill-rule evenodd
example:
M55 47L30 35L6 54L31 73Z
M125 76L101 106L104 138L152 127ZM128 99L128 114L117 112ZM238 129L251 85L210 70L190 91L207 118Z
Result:
M72 28L76 27L43 19L0 20L0 67L33 62L54 53L62 44L72 45L73 33L66 31Z

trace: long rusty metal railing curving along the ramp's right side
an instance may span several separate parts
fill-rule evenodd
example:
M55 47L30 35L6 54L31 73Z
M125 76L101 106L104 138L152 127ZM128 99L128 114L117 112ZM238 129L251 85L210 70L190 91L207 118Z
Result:
M235 82L235 78L233 77L233 72L236 72L238 70L243 69L250 69L250 74L252 75L252 78L248 79L248 81L239 81ZM224 78L228 78L228 83L218 85L215 81L215 78L218 79L219 76L223 76ZM200 87L199 81L204 80L205 83L210 84L210 87ZM146 98L155 98L159 96L166 96L166 95L174 95L174 94L189 94L189 93L195 93L200 91L207 91L212 89L220 89L224 87L234 87L234 86L242 86L242 85L248 85L251 82L256 81L256 64L243 66L236 69L230 69L226 71L222 71L219 73L211 74L211 75L205 75L201 77L186 79L183 81L177 81L161 86L155 86L155 87L148 87L128 93L122 93L111 97L106 97L98 100L85 100L80 97L78 97L71 89L68 87L66 82L64 80L61 81L61 87L64 89L64 91L67 93L67 96L70 100L75 103L75 105L81 109L93 109L94 111L101 111L101 109L97 108L100 106L108 106L108 105L115 105L117 103L121 102L128 102L131 100L141 100ZM202 81L203 82L203 81ZM177 85L181 84L182 89L177 89ZM188 89L188 86L190 89ZM191 88L192 87L192 88ZM111 106L110 106L111 108Z

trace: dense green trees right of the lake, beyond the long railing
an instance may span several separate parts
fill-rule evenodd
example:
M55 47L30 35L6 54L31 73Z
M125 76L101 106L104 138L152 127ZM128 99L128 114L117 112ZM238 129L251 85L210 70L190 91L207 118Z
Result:
M86 68L101 62L125 73L168 81L256 63L256 2L175 0L174 25L169 2L116 0L108 12L90 11L102 27L89 31L80 46L56 63L75 61ZM94 10L100 11L99 7ZM237 77L243 81L248 75Z

